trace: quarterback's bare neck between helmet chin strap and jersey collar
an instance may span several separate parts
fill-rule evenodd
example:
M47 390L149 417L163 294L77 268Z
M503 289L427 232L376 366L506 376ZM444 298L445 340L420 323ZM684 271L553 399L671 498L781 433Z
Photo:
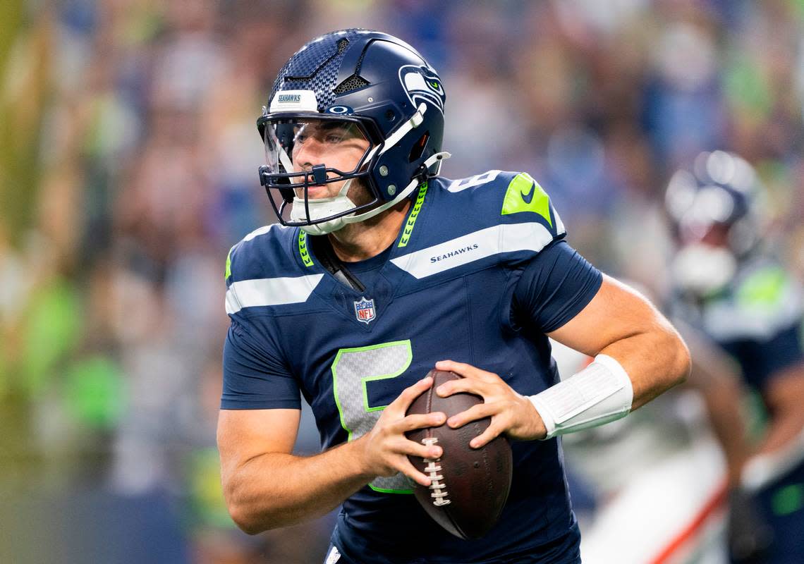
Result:
M330 233L330 244L343 262L371 259L396 240L408 215L410 200L404 200L389 210L360 223L349 223Z

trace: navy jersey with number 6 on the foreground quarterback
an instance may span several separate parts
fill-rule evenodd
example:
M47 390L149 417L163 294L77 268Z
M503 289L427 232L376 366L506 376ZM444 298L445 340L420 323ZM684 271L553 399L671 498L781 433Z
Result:
M558 382L544 333L601 284L564 234L538 183L500 171L420 186L392 247L355 265L364 292L330 276L297 228L253 232L227 263L221 407L297 408L301 394L330 448L371 430L441 359L539 393ZM398 475L343 503L334 544L355 562L576 562L560 440L512 448L511 494L486 537L466 542L441 529Z

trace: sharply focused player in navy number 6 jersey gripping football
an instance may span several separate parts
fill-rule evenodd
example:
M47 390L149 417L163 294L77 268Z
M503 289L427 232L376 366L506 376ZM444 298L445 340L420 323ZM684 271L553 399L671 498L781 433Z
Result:
M689 355L646 300L566 243L526 173L438 175L445 86L391 35L347 30L282 67L257 121L281 225L230 251L218 443L224 493L257 533L343 505L326 562L580 562L558 435L624 417L683 381ZM478 135L482 121L478 121ZM559 382L548 335L595 358ZM438 394L485 403L405 415ZM300 395L322 452L291 454ZM514 440L511 494L482 539L427 517L404 432L490 418ZM412 480L412 481L411 481Z

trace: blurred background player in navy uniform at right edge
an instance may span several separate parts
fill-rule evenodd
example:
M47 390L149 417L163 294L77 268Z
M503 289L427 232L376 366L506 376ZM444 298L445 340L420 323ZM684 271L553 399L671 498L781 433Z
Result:
M677 243L672 313L736 360L768 418L731 498L732 522L753 498L773 540L765 550L732 529L732 559L804 562L804 309L798 281L762 237L764 198L756 171L733 153L701 153L673 175L665 198Z

